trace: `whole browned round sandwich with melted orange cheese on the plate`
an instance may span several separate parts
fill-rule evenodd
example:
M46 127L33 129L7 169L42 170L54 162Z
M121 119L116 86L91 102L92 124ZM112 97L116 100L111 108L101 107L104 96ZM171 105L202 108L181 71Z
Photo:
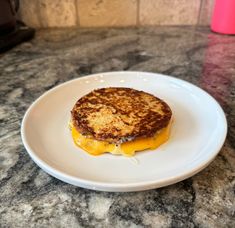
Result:
M131 88L97 89L81 97L71 111L76 145L93 155L132 156L154 149L170 132L172 112L161 99Z

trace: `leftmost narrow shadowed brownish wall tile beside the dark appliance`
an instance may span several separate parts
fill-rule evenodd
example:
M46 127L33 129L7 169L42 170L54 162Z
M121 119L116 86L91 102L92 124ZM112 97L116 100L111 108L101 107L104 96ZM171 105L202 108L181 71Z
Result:
M41 27L39 20L39 8L37 0L21 0L19 9L19 18L28 26L33 28Z

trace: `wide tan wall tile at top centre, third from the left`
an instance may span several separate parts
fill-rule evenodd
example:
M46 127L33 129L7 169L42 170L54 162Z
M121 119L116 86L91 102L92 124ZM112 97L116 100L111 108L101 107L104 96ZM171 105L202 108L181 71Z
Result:
M137 20L137 0L77 0L80 25L133 26Z

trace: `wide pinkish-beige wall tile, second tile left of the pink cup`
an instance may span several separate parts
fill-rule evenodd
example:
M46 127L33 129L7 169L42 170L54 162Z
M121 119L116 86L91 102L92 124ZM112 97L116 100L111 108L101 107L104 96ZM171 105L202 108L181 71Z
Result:
M140 0L141 25L194 25L200 0Z

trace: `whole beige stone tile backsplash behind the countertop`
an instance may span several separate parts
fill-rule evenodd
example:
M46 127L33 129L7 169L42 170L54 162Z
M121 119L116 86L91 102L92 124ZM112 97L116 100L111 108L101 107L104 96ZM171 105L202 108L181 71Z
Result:
M35 28L209 25L214 0L21 0Z

